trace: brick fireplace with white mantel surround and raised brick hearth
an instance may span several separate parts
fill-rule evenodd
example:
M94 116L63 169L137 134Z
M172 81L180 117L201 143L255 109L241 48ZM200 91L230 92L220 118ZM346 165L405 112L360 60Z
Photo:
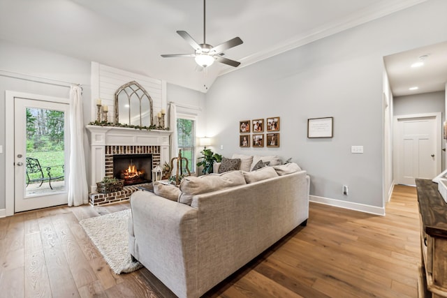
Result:
M140 131L114 126L86 126L90 144L89 202L93 206L129 200L138 185L124 186L115 193L96 193L96 182L114 177L114 156L150 156L146 167L147 179L152 179L154 165L163 165L169 159L170 131Z

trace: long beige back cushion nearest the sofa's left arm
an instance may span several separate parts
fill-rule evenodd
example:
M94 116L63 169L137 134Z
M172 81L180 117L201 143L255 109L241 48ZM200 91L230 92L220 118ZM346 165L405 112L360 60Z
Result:
M243 184L245 184L244 174L239 170L222 174L207 174L200 177L184 177L180 182L182 194L179 196L179 202L191 205L194 195Z

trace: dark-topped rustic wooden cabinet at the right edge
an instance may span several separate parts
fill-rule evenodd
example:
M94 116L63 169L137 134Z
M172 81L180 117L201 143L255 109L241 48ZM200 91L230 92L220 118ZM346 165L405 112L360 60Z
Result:
M438 184L416 179L420 215L419 297L447 297L447 204Z

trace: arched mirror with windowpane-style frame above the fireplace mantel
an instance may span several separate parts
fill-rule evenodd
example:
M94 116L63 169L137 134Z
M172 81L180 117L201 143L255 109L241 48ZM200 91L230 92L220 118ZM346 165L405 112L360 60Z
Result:
M122 85L115 92L115 124L153 126L152 98L138 82Z

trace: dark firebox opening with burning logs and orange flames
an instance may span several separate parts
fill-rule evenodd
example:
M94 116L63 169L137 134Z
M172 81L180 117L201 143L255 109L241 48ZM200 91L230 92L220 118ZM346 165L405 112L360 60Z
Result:
M152 154L122 154L113 156L114 177L124 180L124 185L152 181Z

